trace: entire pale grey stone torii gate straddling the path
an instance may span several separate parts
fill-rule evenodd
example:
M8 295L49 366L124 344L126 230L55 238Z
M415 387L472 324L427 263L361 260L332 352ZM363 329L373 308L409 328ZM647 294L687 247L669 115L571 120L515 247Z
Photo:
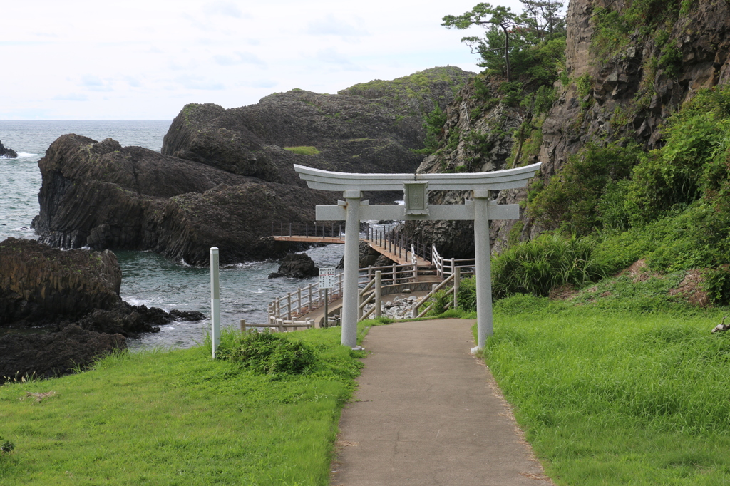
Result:
M477 279L477 344L484 348L492 334L492 284L489 258L489 220L516 220L517 204L489 202L489 190L522 188L540 164L504 171L466 174L347 174L294 164L312 189L341 190L345 201L318 206L317 220L345 220L345 275L342 282L342 344L357 346L358 253L361 220L474 220ZM405 206L369 205L364 190L404 190ZM465 204L431 204L428 190L471 190Z

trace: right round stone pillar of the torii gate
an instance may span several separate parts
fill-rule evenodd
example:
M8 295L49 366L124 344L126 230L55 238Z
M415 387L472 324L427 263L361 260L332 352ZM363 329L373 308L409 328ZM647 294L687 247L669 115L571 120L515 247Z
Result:
M489 258L489 190L474 190L474 250L477 280L477 347L484 349L492 329L492 278Z

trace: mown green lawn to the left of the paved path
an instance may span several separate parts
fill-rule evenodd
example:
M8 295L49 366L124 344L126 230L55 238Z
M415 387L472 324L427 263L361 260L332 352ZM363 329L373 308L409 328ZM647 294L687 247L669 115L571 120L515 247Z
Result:
M291 339L315 350L307 374L255 373L203 347L124 352L0 387L0 436L15 444L0 455L0 485L328 484L361 363L339 328Z

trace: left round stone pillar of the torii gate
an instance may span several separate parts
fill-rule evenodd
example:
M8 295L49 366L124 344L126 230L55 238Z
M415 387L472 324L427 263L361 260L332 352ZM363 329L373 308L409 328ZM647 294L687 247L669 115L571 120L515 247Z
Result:
M345 274L342 282L342 344L358 345L358 255L360 253L359 190L345 190Z

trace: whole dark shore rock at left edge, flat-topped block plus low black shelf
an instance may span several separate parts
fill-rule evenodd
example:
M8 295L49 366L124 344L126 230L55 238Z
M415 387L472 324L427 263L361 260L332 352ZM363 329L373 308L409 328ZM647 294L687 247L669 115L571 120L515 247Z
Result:
M196 311L126 304L119 296L121 276L109 250L58 250L16 238L0 242L0 383L2 377L69 373L124 349L125 336L204 318Z

